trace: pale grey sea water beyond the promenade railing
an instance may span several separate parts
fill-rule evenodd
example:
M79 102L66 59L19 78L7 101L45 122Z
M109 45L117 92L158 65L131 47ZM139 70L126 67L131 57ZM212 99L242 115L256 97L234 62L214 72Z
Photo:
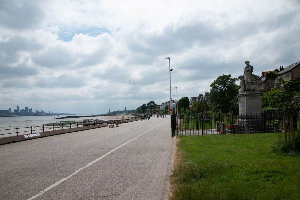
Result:
M88 116L91 114L82 114L84 116ZM74 115L72 115L74 116ZM81 115L79 115L81 116ZM64 116L55 116L56 117L64 117ZM128 115L124 115L124 117L128 117ZM68 122L68 121L77 121L83 119L122 119L122 115L111 115L111 116L91 116L91 117L78 117L78 118L68 118L68 119L54 119L53 116L14 116L14 117L0 117L0 137L14 136L16 135L16 127L23 128L18 131L27 131L30 126L40 126L44 124L55 124L58 122ZM3 129L11 129L12 130L3 130ZM35 131L41 132L41 131ZM11 134L6 134L11 133ZM24 132L19 134L30 134L30 132Z

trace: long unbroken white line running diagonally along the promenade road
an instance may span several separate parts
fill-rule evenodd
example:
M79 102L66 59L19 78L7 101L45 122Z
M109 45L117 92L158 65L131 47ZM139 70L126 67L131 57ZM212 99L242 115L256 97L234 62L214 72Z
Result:
M168 121L168 119L167 119L166 121L164 121L163 123L165 123L165 122L167 122L167 121ZM162 125L163 123L161 123L161 124L159 124L159 125ZM156 127L158 127L159 125L157 125L157 126L155 126L155 127L153 127L153 128L156 128ZM149 129L148 131L151 131L153 128ZM125 142L124 144L122 144L122 145L120 145L120 146L118 146L117 148L115 148L115 149L113 149L113 150L107 152L106 154L104 154L103 156L97 158L96 160L94 160L94 161L88 163L87 165L81 167L80 169L77 169L75 172L73 172L73 174L69 175L68 177L63 178L63 179L57 181L55 184L50 185L50 186L47 187L46 189L44 189L44 190L42 190L41 192L39 192L37 195L32 196L32 197L30 197L29 199L26 199L26 200L32 200L32 199L37 198L38 196L40 196L40 195L44 194L45 192L47 192L48 190L50 190L52 187L55 187L55 186L59 185L59 184L62 183L63 181L67 180L68 178L70 178L70 177L72 177L73 175L75 175L75 174L77 174L78 172L80 172L82 169L87 168L87 167L90 166L91 164L93 164L93 163L97 162L98 160L104 158L104 157L107 156L108 154L110 154L110 153L116 151L117 149L121 148L121 147L124 146L125 144L130 143L132 140L137 139L138 137L140 137L141 135L147 133L148 131L146 131L146 132L144 132L144 133L138 135L137 137L135 137L135 138L133 138L133 139L131 139L131 140Z

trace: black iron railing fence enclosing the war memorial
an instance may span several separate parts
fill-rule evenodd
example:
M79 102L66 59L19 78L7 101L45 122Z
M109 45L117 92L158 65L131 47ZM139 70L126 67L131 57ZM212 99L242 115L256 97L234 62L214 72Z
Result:
M289 130L289 117L286 121ZM283 115L274 112L250 114L196 113L171 115L172 136L208 134L244 134L283 131ZM293 115L294 130L300 126Z

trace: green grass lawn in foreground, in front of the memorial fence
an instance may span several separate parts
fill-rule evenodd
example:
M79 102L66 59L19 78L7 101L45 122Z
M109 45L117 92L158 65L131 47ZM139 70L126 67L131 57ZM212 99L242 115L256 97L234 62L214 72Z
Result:
M170 199L300 199L300 156L277 133L180 136Z

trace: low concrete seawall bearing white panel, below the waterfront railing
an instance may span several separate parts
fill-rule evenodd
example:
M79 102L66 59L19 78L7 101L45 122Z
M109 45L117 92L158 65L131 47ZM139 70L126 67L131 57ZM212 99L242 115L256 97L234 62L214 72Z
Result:
M104 126L108 126L108 124L97 124L97 125L90 125L90 126L83 126L83 127L76 127L76 128L59 129L59 130L54 130L54 131L45 131L45 132L34 133L34 134L1 137L0 145L13 143L13 142L20 142L20 141L24 141L24 140L31 140L31 139L35 139L35 138L39 138L39 137L47 137L47 136L51 136L51 135L72 133L72 132L76 132L76 131L84 131L84 130L93 129L93 128L101 128Z

